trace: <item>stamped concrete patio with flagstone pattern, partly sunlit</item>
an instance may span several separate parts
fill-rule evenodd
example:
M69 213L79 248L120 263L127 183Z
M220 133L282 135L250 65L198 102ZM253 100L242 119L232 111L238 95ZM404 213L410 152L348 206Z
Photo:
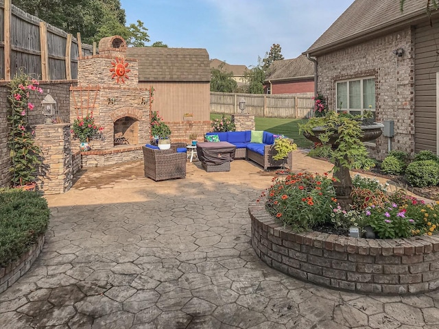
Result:
M248 203L274 173L187 164L154 182L143 164L88 169L49 195L43 252L0 295L0 328L439 328L439 291L379 297L270 269L250 245ZM331 165L294 152L294 171Z

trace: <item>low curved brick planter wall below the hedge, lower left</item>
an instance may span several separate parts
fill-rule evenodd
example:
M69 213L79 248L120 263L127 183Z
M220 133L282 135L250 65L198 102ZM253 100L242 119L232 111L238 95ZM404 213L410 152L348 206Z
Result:
M44 234L38 238L38 241L25 252L19 260L10 263L6 267L0 267L0 293L12 286L16 280L19 280L30 269L34 261L40 254L44 245Z

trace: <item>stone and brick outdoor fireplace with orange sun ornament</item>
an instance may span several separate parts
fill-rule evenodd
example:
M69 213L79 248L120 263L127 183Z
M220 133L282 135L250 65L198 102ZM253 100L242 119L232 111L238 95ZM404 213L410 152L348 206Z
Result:
M102 138L93 138L92 151L106 154L129 145L141 152L150 136L150 95L139 88L138 62L126 58L121 36L103 38L99 55L78 60L78 86L70 90L71 122L93 113L95 123L104 127Z

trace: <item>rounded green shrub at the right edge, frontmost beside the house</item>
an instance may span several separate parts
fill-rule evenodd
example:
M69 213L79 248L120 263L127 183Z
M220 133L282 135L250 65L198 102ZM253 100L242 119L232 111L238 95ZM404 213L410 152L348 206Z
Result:
M439 183L439 163L435 160L414 161L405 169L405 179L416 187L435 186Z

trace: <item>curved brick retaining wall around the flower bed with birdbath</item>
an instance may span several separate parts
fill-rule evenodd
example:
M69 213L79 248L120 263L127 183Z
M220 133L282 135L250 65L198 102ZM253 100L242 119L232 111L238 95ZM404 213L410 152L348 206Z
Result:
M294 233L263 202L248 208L252 246L268 266L333 289L416 294L439 288L439 236L357 239L320 232Z

